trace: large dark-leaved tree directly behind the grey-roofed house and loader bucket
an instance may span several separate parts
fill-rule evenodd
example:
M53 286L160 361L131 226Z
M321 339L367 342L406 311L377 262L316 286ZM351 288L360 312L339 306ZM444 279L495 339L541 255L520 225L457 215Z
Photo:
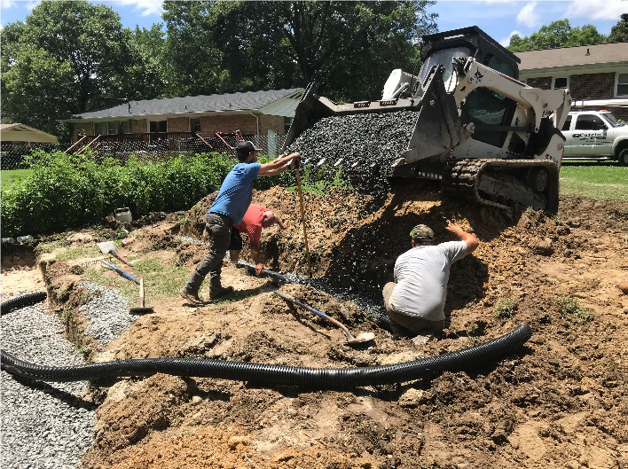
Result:
M421 33L436 30L433 0L165 0L171 47L201 86L259 90L317 80L331 96L379 94L393 68L411 68ZM194 45L202 42L199 52ZM182 51L186 43L192 51ZM190 66L193 58L194 65Z

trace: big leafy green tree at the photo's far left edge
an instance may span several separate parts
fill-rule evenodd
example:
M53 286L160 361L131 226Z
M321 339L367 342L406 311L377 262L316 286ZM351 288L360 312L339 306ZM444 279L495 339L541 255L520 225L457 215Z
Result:
M156 34L134 35L111 8L87 0L42 0L0 31L0 109L58 133L69 113L159 92L161 76L142 51Z

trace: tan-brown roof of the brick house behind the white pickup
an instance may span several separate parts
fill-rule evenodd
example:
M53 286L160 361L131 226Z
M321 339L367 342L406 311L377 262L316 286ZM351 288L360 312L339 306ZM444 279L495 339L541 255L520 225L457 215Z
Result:
M561 47L543 51L514 52L521 59L519 71L566 66L628 65L628 43L608 43Z

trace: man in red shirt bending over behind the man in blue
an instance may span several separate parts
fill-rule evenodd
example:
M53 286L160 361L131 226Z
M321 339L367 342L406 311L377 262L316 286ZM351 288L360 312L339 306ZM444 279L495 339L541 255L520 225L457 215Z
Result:
M268 208L255 204L248 206L242 221L239 224L233 223L235 230L232 230L232 241L229 245L229 255L232 262L234 264L238 262L239 252L242 250L242 237L239 233L246 233L251 240L251 254L255 262L255 273L260 275L263 269L262 253L260 252L262 229L269 228L275 223L279 225L281 230L287 229L286 223L279 218L279 215Z

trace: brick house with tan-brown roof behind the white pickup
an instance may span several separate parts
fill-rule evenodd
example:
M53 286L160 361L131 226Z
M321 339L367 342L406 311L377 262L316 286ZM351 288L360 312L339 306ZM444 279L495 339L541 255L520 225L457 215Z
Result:
M628 120L628 43L514 52L519 80L553 90L567 88L574 109L607 109Z

